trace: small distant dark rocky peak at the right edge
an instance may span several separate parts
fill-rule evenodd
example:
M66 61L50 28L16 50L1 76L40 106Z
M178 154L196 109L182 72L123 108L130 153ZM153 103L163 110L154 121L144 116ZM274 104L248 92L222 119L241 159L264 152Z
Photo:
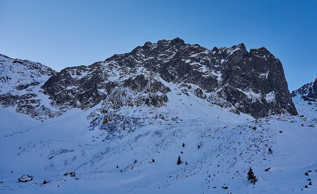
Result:
M317 102L317 78L313 82L301 86L298 90L292 91L291 96L300 96L304 101Z

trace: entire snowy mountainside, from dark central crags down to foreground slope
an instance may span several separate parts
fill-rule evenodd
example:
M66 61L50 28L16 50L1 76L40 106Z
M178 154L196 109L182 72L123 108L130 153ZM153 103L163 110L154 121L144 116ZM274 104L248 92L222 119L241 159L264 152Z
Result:
M21 62L1 75L5 192L317 192L317 111L295 107L264 47L176 38L61 72L1 57L3 69ZM22 175L33 179L18 183Z

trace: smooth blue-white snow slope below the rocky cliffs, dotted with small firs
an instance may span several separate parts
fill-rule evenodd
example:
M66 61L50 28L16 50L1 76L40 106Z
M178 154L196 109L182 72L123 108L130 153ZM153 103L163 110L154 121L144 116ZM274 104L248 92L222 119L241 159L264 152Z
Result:
M98 105L86 111L71 109L43 122L20 115L14 108L0 108L1 191L317 192L314 107L296 104L303 117L280 115L254 120L191 98L176 87L171 86L171 90L165 107L116 110L117 114L142 117L143 123L135 131L122 130L107 139L105 130L88 128L91 120L86 118L100 108ZM268 152L269 147L273 154ZM178 155L183 161L180 165L176 164ZM249 167L258 178L256 185L246 179ZM267 168L270 170L265 172ZM75 177L64 176L73 171ZM34 179L18 183L17 179L26 174ZM313 185L308 185L307 178ZM44 179L51 182L42 185Z

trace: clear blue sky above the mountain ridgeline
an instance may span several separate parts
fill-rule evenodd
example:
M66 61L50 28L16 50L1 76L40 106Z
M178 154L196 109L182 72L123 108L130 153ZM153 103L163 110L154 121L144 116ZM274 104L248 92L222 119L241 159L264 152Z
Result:
M176 37L266 47L290 91L317 77L317 1L0 0L0 53L56 71Z

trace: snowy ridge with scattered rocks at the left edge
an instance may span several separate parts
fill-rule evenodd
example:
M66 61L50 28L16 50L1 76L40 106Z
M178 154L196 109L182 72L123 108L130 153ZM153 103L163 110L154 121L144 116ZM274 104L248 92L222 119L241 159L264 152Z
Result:
M48 97L39 92L39 87L57 72L40 63L2 54L0 67L0 106L14 107L16 112L38 120L57 113L49 105Z

